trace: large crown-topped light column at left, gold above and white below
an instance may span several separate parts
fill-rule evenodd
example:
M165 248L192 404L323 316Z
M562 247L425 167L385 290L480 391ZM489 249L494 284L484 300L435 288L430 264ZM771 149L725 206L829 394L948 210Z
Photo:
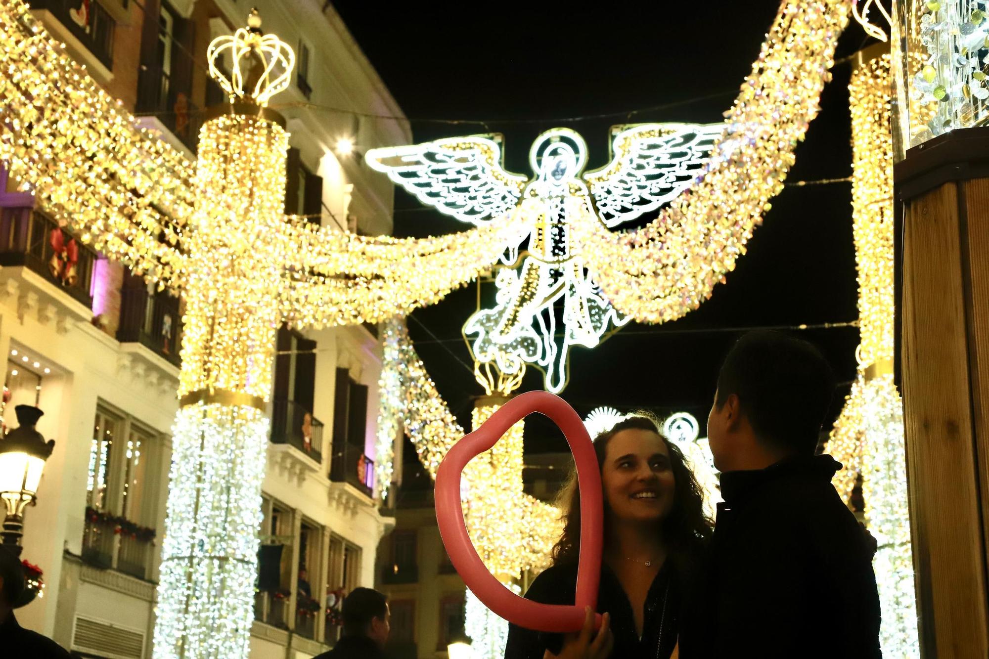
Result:
M262 47L278 46L257 27L225 39L264 56ZM236 75L234 81L233 89L242 84ZM261 105L266 97L258 90L272 86L258 84L245 96L255 104L230 106L250 114L221 116L200 133L156 658L248 652L268 435L264 409L281 322L284 254L274 236L283 224L288 148L288 134ZM232 102L238 94L227 91Z

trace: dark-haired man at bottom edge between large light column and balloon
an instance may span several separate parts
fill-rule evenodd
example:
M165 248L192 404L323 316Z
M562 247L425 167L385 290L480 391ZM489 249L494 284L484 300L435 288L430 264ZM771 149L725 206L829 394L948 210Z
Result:
M385 659L391 631L388 598L370 588L355 588L343 600L343 635L315 659Z

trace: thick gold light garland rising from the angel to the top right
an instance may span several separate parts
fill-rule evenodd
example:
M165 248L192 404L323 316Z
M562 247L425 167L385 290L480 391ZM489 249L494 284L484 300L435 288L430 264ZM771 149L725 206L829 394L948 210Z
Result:
M745 253L782 189L818 112L847 0L788 0L725 119L700 182L634 232L611 234L587 210L575 234L604 295L620 312L663 323L696 309Z

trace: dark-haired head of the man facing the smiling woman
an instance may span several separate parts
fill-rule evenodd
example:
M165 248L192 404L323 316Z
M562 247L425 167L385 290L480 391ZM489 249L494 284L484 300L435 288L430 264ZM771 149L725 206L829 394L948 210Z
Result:
M718 375L707 435L720 471L813 455L835 379L813 344L778 331L743 335Z

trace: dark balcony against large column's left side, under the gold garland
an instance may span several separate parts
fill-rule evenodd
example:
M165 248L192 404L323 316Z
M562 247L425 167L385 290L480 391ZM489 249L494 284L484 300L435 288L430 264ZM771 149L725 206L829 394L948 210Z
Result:
M117 340L140 343L176 366L180 365L182 317L179 299L140 288L121 290L121 324Z

